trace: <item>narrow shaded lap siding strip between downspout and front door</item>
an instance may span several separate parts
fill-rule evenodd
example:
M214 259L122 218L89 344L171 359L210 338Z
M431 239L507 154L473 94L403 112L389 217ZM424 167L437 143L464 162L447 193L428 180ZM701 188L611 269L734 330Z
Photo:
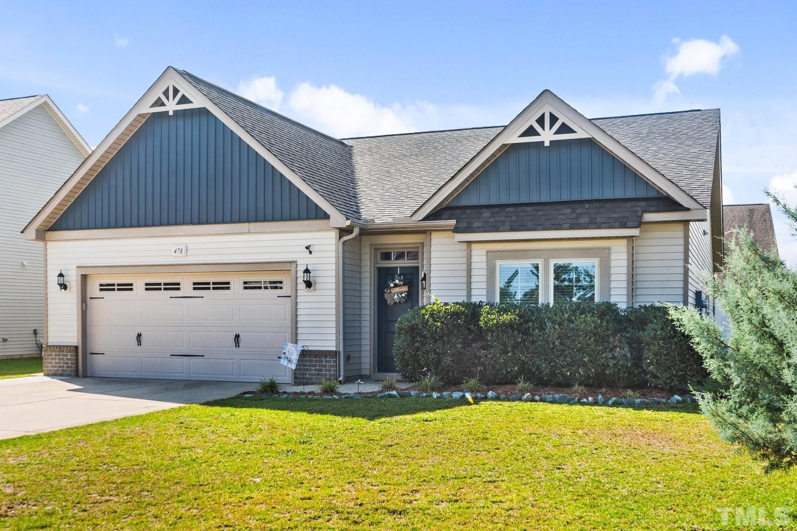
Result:
M360 238L344 242L344 352L351 356L345 361L346 376L359 376L362 372L363 348L361 336L362 306L360 303Z

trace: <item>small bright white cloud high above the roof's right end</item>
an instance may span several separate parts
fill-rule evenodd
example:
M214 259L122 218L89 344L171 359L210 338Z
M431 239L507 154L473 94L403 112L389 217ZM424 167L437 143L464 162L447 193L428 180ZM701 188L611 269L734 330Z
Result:
M662 103L670 94L681 93L675 85L679 77L699 73L716 76L722 69L723 58L739 51L739 46L728 35L723 35L717 42L704 39L691 41L674 39L673 43L678 45L677 53L672 57L666 57L664 67L669 77L654 85L654 101L658 103Z

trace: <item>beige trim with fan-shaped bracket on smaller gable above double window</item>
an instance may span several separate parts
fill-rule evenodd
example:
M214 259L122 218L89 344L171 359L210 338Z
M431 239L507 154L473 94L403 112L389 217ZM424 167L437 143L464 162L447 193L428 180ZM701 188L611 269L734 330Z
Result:
M579 136L579 138L591 137L602 148L609 151L623 163L626 163L628 167L638 173L638 175L641 175L643 179L646 179L646 181L653 185L658 191L661 191L665 195L669 195L669 197L675 199L684 207L690 209L703 208L700 203L697 203L697 200L667 179L654 167L650 166L649 163L639 158L638 155L634 155L630 149L620 144L618 140L615 140L587 117L565 103L559 96L556 96L556 94L546 89L540 93L540 96L537 96L531 104L528 104L528 107L526 107L523 112L520 112L512 122L493 138L493 140L490 140L484 148L481 148L481 151L479 151L473 159L470 159L465 166L461 167L447 183L440 187L438 191L434 192L430 199L427 199L421 207L418 207L418 210L415 210L412 218L415 221L420 221L434 210L444 206L448 201L453 199L453 197L475 179L485 167L489 166L489 163L496 159L497 156L506 149L508 144L512 144L516 141L515 139L521 138L524 132L528 132L528 128L533 127L532 124L535 123L535 120L543 116L545 112L554 112L559 120L566 120L564 123L568 124L575 134L584 135ZM558 129L558 126L556 127ZM544 127L540 127L540 129L542 129L542 132L545 132ZM540 130L536 131L540 133L540 136L543 136L544 141L544 135ZM554 132L556 132L556 129ZM548 124L548 133L550 136L553 136L553 132L550 130L550 123ZM532 134L527 136L533 137ZM550 140L552 139L549 139L549 141Z

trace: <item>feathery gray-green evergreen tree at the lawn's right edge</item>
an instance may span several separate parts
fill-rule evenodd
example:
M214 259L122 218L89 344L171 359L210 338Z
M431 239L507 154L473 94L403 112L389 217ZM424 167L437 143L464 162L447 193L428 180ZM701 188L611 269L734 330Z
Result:
M703 356L724 389L698 395L720 437L767 462L767 470L797 464L797 271L764 254L750 234L728 238L724 279L709 283L728 315L731 333L696 310L670 316Z

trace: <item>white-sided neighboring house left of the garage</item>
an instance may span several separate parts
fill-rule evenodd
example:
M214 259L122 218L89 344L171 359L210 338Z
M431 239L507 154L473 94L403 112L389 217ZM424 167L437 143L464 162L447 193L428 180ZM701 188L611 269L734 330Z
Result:
M0 358L40 352L44 246L20 231L90 151L49 96L0 100Z

